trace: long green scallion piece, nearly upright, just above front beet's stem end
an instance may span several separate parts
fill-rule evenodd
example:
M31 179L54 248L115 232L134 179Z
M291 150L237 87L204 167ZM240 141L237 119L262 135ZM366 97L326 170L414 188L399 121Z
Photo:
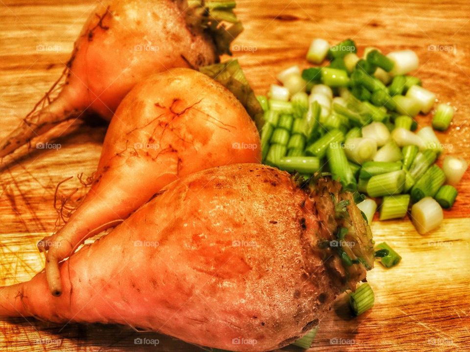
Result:
M345 190L355 191L357 188L356 179L352 174L341 142L330 143L327 149L327 158L333 179L339 179Z

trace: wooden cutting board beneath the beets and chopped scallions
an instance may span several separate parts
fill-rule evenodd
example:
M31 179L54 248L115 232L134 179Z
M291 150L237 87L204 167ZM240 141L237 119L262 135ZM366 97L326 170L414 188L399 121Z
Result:
M60 75L75 37L94 8L90 0L0 1L0 137L10 132ZM258 94L275 74L306 66L312 38L331 44L348 37L384 51L411 48L420 57L423 86L457 108L447 133L446 154L469 159L470 2L468 0L239 0L245 31L234 54ZM47 50L41 50L41 48ZM419 119L429 124L429 117ZM62 130L63 132L63 130ZM58 136L59 150L34 150L4 160L0 173L0 284L31 278L44 266L36 242L54 230L57 183L90 175L98 161L105 126L73 123ZM56 135L59 134L58 132ZM61 188L67 193L74 180ZM421 236L408 219L374 222L377 242L386 240L403 257L368 275L375 307L352 318L338 299L311 351L470 351L470 182L446 220ZM135 338L159 344L136 345ZM156 342L156 341L154 341ZM199 351L167 336L124 327L66 324L34 319L0 322L2 351ZM286 348L286 351L297 351Z

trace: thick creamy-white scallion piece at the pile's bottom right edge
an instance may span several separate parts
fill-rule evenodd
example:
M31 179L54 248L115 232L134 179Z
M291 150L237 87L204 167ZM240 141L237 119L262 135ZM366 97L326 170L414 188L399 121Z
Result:
M437 228L443 219L441 206L431 197L424 197L411 207L411 220L422 235Z

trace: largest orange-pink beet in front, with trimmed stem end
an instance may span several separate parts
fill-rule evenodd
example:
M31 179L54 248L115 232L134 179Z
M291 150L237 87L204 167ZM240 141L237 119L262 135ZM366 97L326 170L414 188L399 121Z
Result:
M374 262L357 207L335 217L334 202L352 199L340 188L326 178L301 188L259 164L186 176L61 263L62 296L44 272L1 287L0 316L128 324L233 351L285 346ZM340 227L357 264L325 245Z

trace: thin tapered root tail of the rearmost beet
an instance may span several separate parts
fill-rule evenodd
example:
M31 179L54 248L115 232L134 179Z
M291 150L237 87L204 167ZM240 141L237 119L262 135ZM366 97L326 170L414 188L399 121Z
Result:
M79 110L69 108L69 104L61 96L43 109L32 111L23 119L20 126L0 141L0 159L61 122L78 117L80 113Z

